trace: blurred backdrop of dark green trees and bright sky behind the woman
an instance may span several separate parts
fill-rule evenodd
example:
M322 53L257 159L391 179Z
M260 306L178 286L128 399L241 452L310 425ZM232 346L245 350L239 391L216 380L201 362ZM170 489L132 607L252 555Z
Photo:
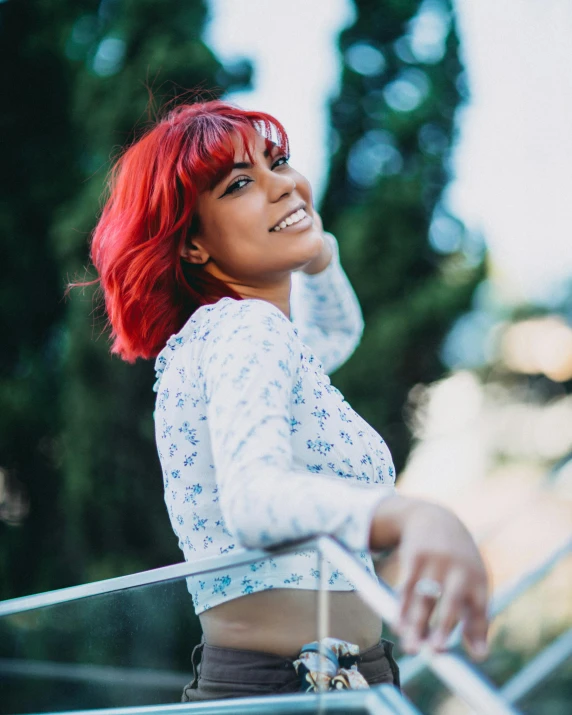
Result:
M64 291L93 275L110 162L198 90L289 133L366 320L332 381L388 442L400 489L465 520L495 593L534 582L495 618L483 671L502 686L550 644L572 652L571 35L569 0L0 2L0 599L182 559L153 364L111 358L97 295ZM85 619L20 619L0 666L36 633L28 657L188 671L200 630L172 588L132 597L113 648ZM560 661L523 712L570 712ZM426 674L406 692L465 712Z

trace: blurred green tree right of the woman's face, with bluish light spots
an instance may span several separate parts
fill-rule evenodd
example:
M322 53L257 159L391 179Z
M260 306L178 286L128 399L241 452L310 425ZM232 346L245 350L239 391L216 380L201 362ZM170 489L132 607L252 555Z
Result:
M464 259L462 241L449 256L428 241L450 179L463 90L450 3L355 4L356 21L340 37L345 64L331 103L335 153L321 210L340 240L366 331L335 381L387 439L399 473L411 441L407 394L442 376L443 338L468 308L483 267ZM440 18L441 52L415 55L408 23L420 9ZM446 219L464 240L459 222Z

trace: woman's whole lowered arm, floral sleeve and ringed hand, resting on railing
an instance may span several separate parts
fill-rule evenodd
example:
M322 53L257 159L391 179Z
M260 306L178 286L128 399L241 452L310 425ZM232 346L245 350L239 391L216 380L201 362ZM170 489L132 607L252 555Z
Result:
M434 602L419 578L443 589L437 649L466 615L467 645L486 640L486 572L449 511L396 495L393 485L348 482L294 468L290 402L299 354L293 326L265 301L240 301L209 335L201 369L221 510L241 545L268 548L331 534L349 549L399 547L404 646L417 650ZM327 444L324 443L324 449Z

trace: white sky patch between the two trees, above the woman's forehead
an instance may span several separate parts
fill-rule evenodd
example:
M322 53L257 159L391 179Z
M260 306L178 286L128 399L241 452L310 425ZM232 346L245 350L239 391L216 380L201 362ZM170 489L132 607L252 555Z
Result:
M327 100L339 91L336 40L354 17L350 0L209 0L204 36L223 60L248 57L254 89L226 97L273 114L288 132L291 163L319 204L327 168Z

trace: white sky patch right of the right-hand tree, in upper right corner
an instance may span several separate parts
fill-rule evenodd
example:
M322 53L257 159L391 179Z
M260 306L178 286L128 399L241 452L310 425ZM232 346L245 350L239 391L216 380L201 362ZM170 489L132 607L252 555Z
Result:
M572 274L572 2L455 6L472 99L450 203L515 296L550 302Z

